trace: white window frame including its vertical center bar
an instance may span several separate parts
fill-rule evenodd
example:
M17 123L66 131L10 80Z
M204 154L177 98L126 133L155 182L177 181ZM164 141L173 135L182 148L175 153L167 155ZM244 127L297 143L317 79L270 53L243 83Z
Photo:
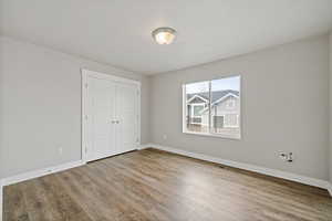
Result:
M222 78L229 78L229 77L239 77L239 116L238 116L238 125L239 125L239 134L238 136L231 136L231 135L226 135L226 134L218 134L211 131L211 82L215 80L222 80ZM187 96L186 96L186 85L187 84L193 84L193 83L199 83L199 82L209 82L209 131L208 133L198 133L198 131L190 131L187 130L187 115L188 115L188 109L187 109ZM225 75L211 80L201 80L201 81L196 81L196 82L186 82L181 84L183 87L183 134L188 134L188 135L199 135L199 136L208 136L208 137L218 137L218 138L224 138L224 139L234 139L234 140L241 140L242 139L242 76L240 74L236 75Z

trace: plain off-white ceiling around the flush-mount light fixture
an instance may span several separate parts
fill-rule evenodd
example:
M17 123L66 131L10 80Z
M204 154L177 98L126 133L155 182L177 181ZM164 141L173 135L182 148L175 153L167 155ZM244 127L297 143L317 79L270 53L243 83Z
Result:
M332 0L0 0L1 34L156 74L332 28ZM159 27L178 31L156 44Z

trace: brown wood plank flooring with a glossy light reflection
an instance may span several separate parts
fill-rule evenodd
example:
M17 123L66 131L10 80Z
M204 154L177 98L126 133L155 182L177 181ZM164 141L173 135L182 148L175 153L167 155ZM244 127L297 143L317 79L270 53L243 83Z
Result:
M4 188L4 221L332 221L323 189L156 149Z

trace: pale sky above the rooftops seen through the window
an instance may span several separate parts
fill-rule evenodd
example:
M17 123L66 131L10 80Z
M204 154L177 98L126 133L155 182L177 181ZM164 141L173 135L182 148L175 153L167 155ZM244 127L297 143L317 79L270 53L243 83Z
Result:
M225 91L225 90L234 90L240 91L240 76L225 77L220 80L211 81L211 90L212 91ZM209 82L198 82L186 85L186 93L200 93L209 91Z

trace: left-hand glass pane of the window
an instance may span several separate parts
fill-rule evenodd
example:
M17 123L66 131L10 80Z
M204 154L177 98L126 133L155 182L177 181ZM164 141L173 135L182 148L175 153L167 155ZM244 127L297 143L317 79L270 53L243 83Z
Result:
M209 82L186 84L186 128L188 131L209 131Z

